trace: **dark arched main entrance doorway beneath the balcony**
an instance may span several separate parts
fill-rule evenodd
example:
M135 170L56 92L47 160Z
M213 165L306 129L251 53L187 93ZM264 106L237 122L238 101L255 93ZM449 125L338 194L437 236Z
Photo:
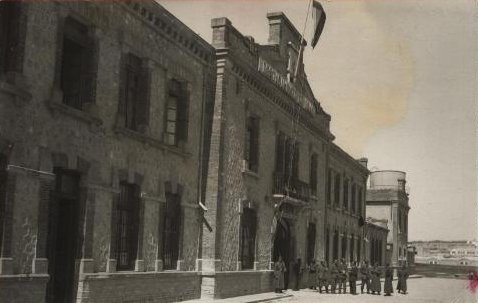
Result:
M274 262L279 259L279 256L282 256L282 260L284 260L285 267L287 268L287 273L284 275L284 287L287 289L289 284L289 263L291 260L290 255L290 245L291 245L291 237L290 237L290 224L287 222L286 219L279 219L277 222L277 228L274 236L274 251L272 254L272 260Z

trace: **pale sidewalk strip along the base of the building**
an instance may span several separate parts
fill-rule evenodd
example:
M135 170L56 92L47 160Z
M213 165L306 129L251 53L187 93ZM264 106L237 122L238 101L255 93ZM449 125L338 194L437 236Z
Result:
M422 275L411 275L408 279L418 279L422 278ZM385 278L380 279L383 283ZM397 280L395 277L394 281ZM357 286L360 286L362 283L361 281L357 281ZM304 289L302 289L304 290ZM348 282L347 282L347 291L349 290ZM294 296L295 291L286 290L282 294L276 294L274 292L265 292L260 294L248 295L248 296L239 296L239 297L232 297L227 299L198 299L198 300L189 300L184 301L186 303L258 303L258 302L270 302L270 301L277 301L282 300L285 298L290 298Z

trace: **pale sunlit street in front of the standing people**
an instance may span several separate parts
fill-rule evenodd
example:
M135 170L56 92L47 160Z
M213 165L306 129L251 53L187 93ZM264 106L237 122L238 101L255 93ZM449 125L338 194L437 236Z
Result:
M472 293L468 288L468 280L443 279L443 278L419 278L408 280L408 294L394 293L391 297L378 295L350 295L350 294L320 294L313 290L291 291L292 297L269 302L324 302L324 303L373 303L373 302L411 302L411 303L478 303L478 289ZM396 287L396 281L393 283ZM383 285L382 285L383 287ZM360 288L358 288L360 292Z

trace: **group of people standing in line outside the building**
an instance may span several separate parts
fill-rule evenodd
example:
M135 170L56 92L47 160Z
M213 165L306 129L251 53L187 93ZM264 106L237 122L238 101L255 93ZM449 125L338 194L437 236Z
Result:
M359 266L358 262L351 262L349 266L345 259L335 260L328 264L326 261L316 263L313 260L306 268L300 268L300 260L295 262L296 269L296 286L303 270L308 271L308 287L311 289L318 289L320 293L347 293L347 281L350 286L350 293L357 294L357 281L361 280L360 291L363 294L364 290L367 294L380 295L382 292L382 283L380 278L384 276L385 282L383 285L383 293L385 296L391 296L393 291L393 268L387 264L383 269L378 266L378 263L371 266L367 261L363 261ZM299 264L299 265L298 265ZM284 289L284 277L287 272L286 265L281 257L274 264L274 279L275 291L280 293ZM398 283L396 290L398 293L407 293L407 278L409 276L406 265L397 270Z

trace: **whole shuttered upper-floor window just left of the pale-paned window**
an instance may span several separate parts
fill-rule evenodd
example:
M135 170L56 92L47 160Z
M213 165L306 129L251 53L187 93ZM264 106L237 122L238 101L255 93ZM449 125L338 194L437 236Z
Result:
M121 64L121 119L124 127L139 132L149 124L150 72L146 61L128 53Z

